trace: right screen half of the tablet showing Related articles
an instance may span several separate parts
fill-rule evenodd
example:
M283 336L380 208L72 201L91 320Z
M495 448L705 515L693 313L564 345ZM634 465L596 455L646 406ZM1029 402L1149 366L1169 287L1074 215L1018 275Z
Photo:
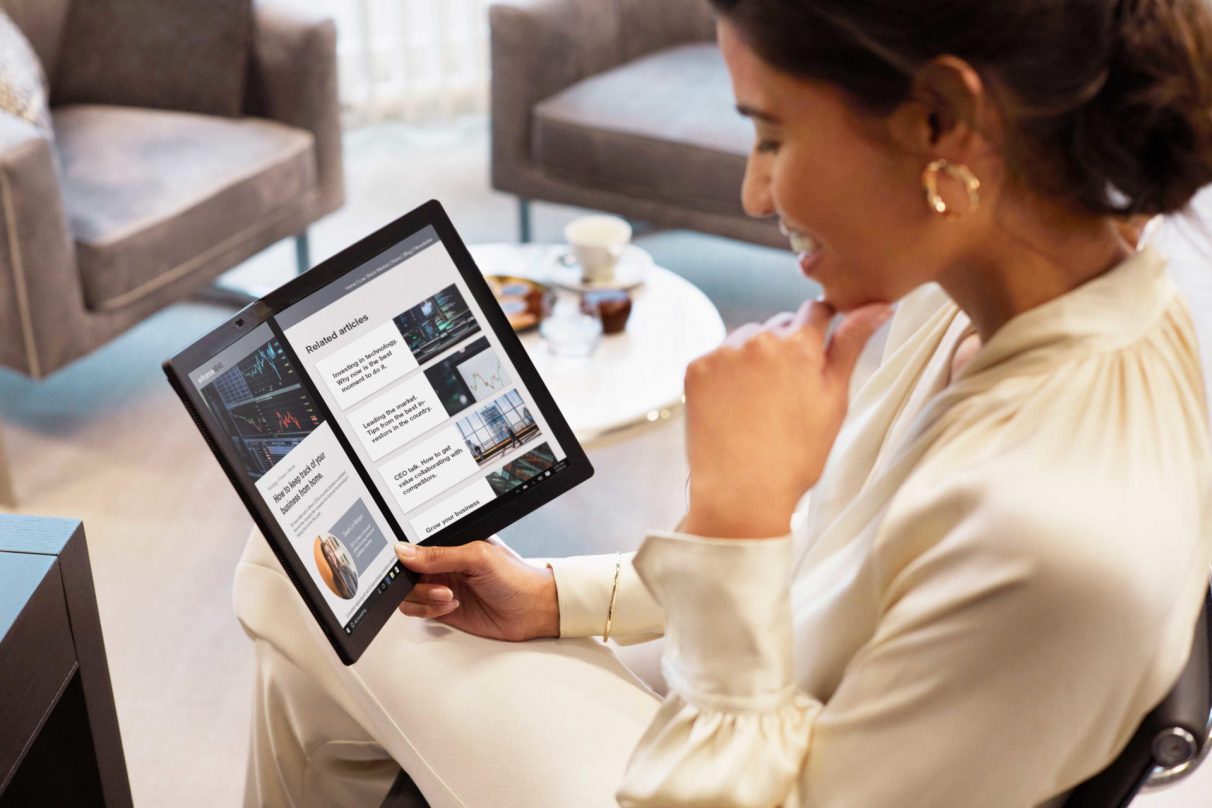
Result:
M567 465L433 228L278 323L410 540Z

